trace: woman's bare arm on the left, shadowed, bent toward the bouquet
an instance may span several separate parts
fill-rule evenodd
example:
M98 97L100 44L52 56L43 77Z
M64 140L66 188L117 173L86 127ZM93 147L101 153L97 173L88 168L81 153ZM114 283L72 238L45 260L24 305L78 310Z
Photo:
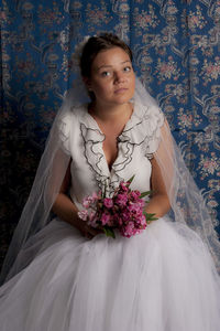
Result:
M96 229L96 228L88 226L86 222L81 221L78 217L78 214L77 214L78 209L76 207L75 203L67 195L67 192L68 192L68 189L70 185L70 180L72 180L70 163L72 163L72 161L69 161L65 178L61 185L59 193L57 194L57 197L53 204L52 210L61 220L77 227L84 236L92 237L102 232L100 232L100 229Z

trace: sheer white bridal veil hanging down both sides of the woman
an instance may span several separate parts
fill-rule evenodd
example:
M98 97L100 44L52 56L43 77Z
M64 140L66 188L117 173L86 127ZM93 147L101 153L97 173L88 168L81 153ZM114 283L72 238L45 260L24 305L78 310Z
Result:
M66 93L63 105L52 126L30 196L3 263L0 278L1 284L9 280L31 263L35 253L31 256L25 256L25 254L22 254L23 248L29 244L29 239L53 217L53 213L51 212L52 205L59 191L70 160L68 150L64 150L63 148L65 141L67 142L68 140L68 137L63 134L65 131L63 129L63 126L65 126L63 119L67 114L70 114L74 119L75 107L89 103L82 82L76 82L74 86L74 88ZM151 116L154 115L154 111L158 113L155 99L150 96L139 78L136 78L133 102L151 107ZM218 271L220 271L220 242L217 232L215 231L205 201L172 137L166 120L161 128L158 139L158 149L152 157L160 164L169 196L172 205L169 217L173 222L187 224L202 237L213 257Z

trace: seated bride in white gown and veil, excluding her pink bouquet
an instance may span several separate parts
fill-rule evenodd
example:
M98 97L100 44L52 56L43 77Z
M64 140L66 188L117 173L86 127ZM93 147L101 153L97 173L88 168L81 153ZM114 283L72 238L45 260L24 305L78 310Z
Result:
M111 34L90 38L80 70L91 102L70 95L53 126L4 271L1 330L218 331L220 280L207 248L218 254L217 237L130 49ZM153 192L145 211L158 220L145 231L113 239L79 218L85 196L111 196L132 175L132 189ZM204 241L184 223L188 200Z

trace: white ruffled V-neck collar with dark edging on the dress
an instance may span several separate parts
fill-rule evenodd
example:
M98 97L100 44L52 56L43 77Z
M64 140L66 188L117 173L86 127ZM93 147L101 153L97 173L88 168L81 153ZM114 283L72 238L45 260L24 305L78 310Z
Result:
M152 139L155 136L155 130L158 128L160 109L158 107L152 109L152 107L155 106L147 107L134 104L131 118L118 137L118 157L111 170L102 149L102 142L106 139L105 134L88 113L88 104L78 108L85 157L101 190L107 186L111 193L121 180L127 180L122 178L121 171L132 161L135 146L143 145L146 139Z

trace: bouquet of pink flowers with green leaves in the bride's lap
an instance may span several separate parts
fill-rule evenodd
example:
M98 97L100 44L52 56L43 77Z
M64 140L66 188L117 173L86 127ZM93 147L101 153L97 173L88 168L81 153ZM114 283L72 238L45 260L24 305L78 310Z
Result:
M144 212L143 197L151 194L151 191L141 193L130 189L133 178L134 175L127 182L120 182L112 197L106 196L106 190L85 197L85 210L78 212L78 216L90 226L102 228L107 236L113 238L116 228L128 238L140 234L151 221L157 218L154 217L155 214Z

